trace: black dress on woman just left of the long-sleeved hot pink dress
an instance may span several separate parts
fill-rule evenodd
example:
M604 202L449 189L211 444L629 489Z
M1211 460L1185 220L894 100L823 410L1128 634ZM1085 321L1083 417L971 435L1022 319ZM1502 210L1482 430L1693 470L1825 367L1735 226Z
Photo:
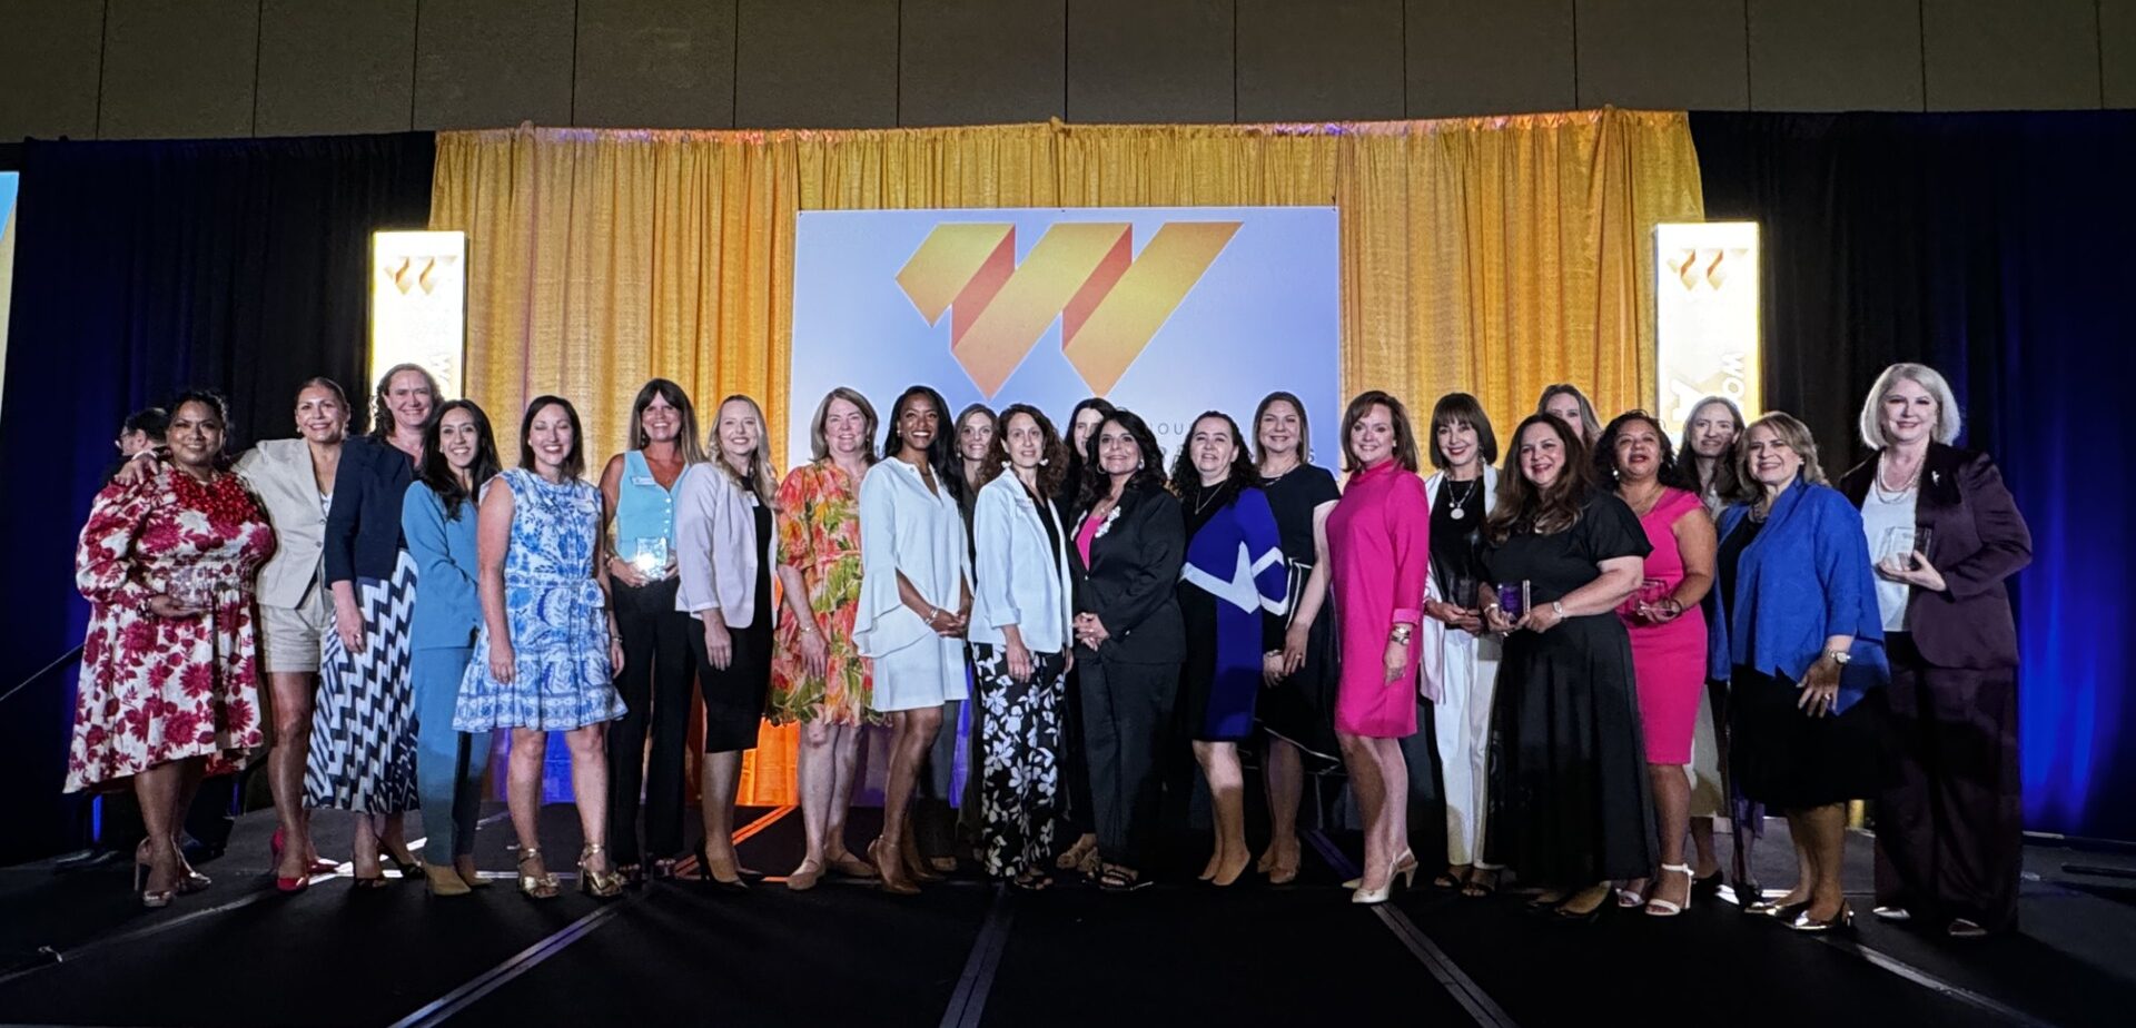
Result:
M1260 492L1275 511L1275 530L1284 539L1284 564L1290 566L1290 609L1269 618L1267 650L1284 648L1284 633L1305 596L1305 579L1314 573L1314 509L1341 500L1335 474L1316 464L1301 464L1275 479L1262 479ZM1305 633L1305 663L1284 684L1262 692L1256 716L1260 727L1305 752L1337 759L1335 746L1335 592L1329 590L1314 626Z

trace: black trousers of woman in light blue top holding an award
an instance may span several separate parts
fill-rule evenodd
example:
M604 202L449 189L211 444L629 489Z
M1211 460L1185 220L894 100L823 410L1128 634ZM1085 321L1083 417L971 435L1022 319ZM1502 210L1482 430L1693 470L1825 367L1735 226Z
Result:
M675 611L679 579L645 588L615 583L615 628L624 637L624 673L615 677L628 712L609 722L609 855L641 863L639 791L645 795L645 851L654 859L684 855L684 748L690 744L690 690L698 663L690 639L698 622ZM698 643L703 645L703 643ZM645 739L651 733L651 757Z

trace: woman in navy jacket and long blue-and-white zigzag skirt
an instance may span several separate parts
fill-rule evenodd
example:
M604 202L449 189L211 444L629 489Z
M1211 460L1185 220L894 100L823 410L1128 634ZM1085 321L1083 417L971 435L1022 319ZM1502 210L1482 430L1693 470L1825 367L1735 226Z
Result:
M417 566L402 539L402 502L423 460L423 425L438 380L414 363L378 378L372 434L342 442L327 511L327 588L333 635L325 639L305 806L355 810L355 883L384 885L378 857L404 878L421 866L408 853L402 814L417 801L414 686L408 682Z

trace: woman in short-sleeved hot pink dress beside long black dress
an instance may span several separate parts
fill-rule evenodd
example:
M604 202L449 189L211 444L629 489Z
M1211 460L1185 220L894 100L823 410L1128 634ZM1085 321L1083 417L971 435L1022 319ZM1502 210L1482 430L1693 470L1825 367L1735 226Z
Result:
M1692 904L1696 883L1696 872L1683 863L1692 804L1685 772L1692 763L1698 699L1707 690L1707 618L1698 603L1713 588L1713 519L1692 483L1679 479L1677 455L1662 423L1645 410L1617 415L1602 430L1596 468L1617 483L1617 498L1638 515L1651 547L1638 592L1617 605L1617 616L1632 635L1662 881L1653 883L1651 893L1645 878L1625 883L1617 904L1670 917Z

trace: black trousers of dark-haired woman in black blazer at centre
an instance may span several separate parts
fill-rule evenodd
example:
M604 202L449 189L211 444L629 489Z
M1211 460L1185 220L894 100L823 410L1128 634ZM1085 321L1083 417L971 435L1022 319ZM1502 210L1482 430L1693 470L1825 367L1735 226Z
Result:
M1083 754L1089 761L1098 855L1147 868L1160 844L1164 778L1160 761L1173 735L1179 665L1102 660L1077 648L1083 686Z

